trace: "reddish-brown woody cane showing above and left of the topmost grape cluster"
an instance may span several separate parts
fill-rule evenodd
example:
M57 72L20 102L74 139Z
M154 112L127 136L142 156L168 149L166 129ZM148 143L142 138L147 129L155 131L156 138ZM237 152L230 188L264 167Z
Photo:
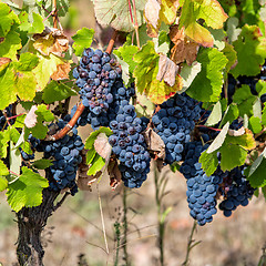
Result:
M116 30L114 30L114 32L111 37L111 40L109 41L109 45L105 50L105 52L108 52L109 54L112 53L112 50L113 50L113 47L114 47L114 41L115 41L117 34L119 34L119 32ZM47 135L45 141L58 141L58 140L64 137L68 134L68 132L70 132L73 129L78 119L83 113L84 109L85 109L85 106L83 105L83 103L80 103L80 105L78 106L78 109L76 109L73 117L70 120L70 122L61 131L57 132L55 134Z

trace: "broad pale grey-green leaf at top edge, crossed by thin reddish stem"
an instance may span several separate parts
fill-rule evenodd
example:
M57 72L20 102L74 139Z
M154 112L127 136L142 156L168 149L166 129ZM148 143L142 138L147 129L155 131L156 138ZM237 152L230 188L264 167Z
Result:
M145 2L145 0L135 0L136 20L139 27L143 22L142 11L144 10ZM93 0L93 3L96 20L102 27L111 25L117 31L125 32L134 30L127 0ZM132 7L131 9L133 10Z

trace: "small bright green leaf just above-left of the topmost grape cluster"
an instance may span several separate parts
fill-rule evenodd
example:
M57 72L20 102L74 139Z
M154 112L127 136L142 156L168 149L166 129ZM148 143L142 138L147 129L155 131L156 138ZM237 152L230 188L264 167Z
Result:
M83 50L91 45L94 33L95 31L93 29L88 28L82 28L81 30L76 31L76 33L72 37L74 41L73 48L75 55L82 55Z

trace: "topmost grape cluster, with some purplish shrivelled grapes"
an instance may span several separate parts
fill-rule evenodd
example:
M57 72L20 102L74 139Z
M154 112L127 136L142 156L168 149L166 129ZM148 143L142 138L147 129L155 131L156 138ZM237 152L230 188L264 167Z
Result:
M106 113L109 104L113 102L111 93L116 78L121 76L121 69L110 54L101 50L88 48L83 52L80 65L73 70L76 85L81 88L80 95L84 106L95 115Z

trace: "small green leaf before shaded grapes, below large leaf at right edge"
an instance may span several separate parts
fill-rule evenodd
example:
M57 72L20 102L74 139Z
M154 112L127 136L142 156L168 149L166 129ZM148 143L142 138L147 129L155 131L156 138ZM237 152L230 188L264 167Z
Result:
M245 114L248 116L253 115L253 104L256 101L256 96L252 94L248 85L242 85L237 89L233 95L233 102L237 104L239 115L244 117Z

